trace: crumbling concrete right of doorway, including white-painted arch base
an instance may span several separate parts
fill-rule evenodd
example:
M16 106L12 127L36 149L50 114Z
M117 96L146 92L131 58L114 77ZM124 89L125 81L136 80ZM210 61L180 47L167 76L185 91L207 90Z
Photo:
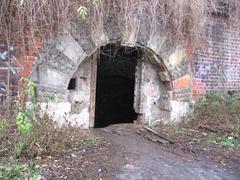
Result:
M176 123L192 110L191 99L178 100L165 79L160 78L159 70L151 61L141 63L141 103L139 113L145 123L154 126L158 123ZM137 81L139 83L139 81Z

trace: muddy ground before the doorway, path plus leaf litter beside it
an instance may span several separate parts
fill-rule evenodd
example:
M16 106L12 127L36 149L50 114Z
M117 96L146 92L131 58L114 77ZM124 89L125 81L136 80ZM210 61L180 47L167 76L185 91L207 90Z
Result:
M174 138L167 129L168 137ZM155 142L135 124L116 124L88 133L105 140L38 161L43 179L209 180L240 179L239 151L233 159L214 149L192 148L186 139ZM180 136L179 136L180 137ZM184 143L185 140L185 143ZM206 147L205 147L206 148ZM225 153L225 152L224 152ZM231 152L233 153L233 152ZM230 156L231 154L229 154Z

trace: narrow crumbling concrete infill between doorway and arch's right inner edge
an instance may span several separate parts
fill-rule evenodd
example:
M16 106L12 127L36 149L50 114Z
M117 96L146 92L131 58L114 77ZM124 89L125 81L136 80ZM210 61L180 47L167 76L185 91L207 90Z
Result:
M142 63L142 113L145 123L154 125L157 122L170 121L170 107L163 84L159 78L157 69L149 62ZM168 103L164 104L164 101ZM164 107L162 107L164 106Z

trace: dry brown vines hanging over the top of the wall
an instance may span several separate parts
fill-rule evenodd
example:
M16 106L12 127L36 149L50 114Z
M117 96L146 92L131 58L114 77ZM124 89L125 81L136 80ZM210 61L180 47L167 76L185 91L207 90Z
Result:
M80 6L87 9L85 19L79 17ZM33 38L46 37L76 22L82 29L88 27L95 31L99 24L105 24L111 18L115 18L121 27L121 23L137 17L147 19L151 27L159 26L163 32L169 32L169 37L191 39L201 31L211 12L224 11L238 19L239 7L238 0L2 0L0 32L4 39L10 40L23 34Z

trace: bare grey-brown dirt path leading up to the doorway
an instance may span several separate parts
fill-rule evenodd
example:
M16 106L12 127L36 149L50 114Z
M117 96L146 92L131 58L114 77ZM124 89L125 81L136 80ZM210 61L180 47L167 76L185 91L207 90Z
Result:
M177 155L136 133L136 125L118 124L95 129L111 143L109 159L114 179L211 180L240 179L222 166L188 154Z

